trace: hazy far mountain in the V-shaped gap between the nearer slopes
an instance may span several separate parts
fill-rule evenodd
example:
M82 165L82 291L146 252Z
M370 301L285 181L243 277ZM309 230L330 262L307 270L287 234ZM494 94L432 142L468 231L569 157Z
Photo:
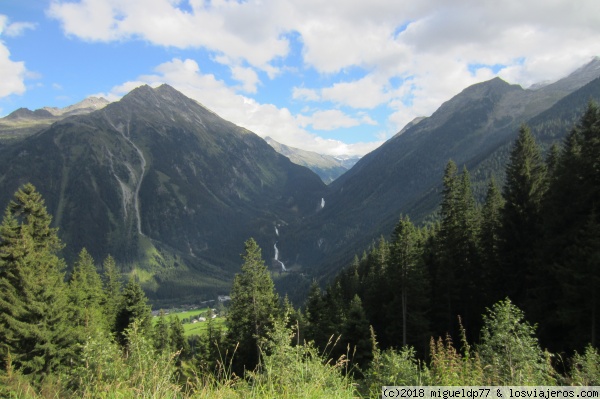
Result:
M326 184L329 184L340 177L360 159L360 157L333 157L312 151L301 150L299 148L281 144L270 137L266 137L265 141L269 143L275 151L285 155L293 163L306 166L315 172Z

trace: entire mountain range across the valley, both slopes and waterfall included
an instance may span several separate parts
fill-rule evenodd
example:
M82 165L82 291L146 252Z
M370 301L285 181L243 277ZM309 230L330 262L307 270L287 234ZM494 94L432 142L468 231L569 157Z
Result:
M473 85L337 178L337 161L265 141L167 85L79 111L21 109L0 120L0 206L32 182L68 260L83 247L98 261L110 253L154 300L227 293L249 237L278 287L299 295L388 236L401 214L434 220L448 160L469 169L482 196L489 178L502 183L522 123L545 149L560 141L600 100L599 76L594 59L529 89Z

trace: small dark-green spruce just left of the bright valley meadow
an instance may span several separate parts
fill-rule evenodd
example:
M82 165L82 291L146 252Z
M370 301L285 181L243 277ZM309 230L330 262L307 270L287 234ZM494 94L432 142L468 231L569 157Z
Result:
M127 343L125 330L136 320L138 330L143 334L150 334L152 314L147 302L148 298L140 284L134 278L129 279L123 289L122 301L115 322L117 339L122 345Z

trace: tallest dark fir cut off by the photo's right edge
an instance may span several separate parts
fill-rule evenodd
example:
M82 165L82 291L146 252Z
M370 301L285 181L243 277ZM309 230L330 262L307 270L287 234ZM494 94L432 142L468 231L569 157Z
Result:
M600 110L590 102L564 141L544 203L541 254L550 268L540 303L555 317L540 332L557 348L598 342L599 159Z

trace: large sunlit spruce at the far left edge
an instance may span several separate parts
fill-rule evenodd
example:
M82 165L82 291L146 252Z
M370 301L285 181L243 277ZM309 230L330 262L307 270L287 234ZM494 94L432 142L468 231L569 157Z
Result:
M42 196L21 187L0 225L0 360L25 374L47 375L72 353L67 287ZM6 365L6 364L5 364Z

